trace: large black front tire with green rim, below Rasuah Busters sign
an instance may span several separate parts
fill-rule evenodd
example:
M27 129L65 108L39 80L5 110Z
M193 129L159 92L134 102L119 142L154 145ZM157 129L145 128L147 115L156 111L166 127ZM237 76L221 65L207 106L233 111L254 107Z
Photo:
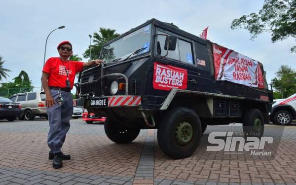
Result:
M200 144L201 131L198 115L191 109L177 107L167 111L158 125L158 145L174 159L189 157Z

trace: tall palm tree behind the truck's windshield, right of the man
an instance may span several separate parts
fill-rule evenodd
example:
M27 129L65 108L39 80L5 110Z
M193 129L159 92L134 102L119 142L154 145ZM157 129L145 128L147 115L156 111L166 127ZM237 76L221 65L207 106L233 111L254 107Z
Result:
M100 28L99 33L95 32L93 35L93 45L89 46L88 49L83 53L84 58L89 58L91 49L91 60L98 59L100 57L100 52L102 50L103 44L120 36L120 34L115 33L116 30Z

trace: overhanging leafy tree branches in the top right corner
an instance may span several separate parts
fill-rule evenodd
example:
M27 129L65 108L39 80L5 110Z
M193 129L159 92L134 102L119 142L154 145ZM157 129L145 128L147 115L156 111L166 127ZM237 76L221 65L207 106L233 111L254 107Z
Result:
M296 38L296 0L264 0L259 13L243 15L234 19L231 29L244 28L253 40L262 32L270 32L272 42ZM296 52L296 45L291 48Z

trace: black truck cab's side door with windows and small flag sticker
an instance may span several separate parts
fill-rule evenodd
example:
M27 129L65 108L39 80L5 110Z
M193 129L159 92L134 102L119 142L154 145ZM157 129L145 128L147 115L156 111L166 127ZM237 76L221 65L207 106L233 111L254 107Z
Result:
M206 41L197 42L192 39L170 33L162 29L156 29L155 40L156 56L164 56L166 36L175 36L177 45L175 50L168 51L164 57L166 62L187 71L187 89L194 91L204 91L212 85L213 78L211 74L211 65L209 61L209 52Z

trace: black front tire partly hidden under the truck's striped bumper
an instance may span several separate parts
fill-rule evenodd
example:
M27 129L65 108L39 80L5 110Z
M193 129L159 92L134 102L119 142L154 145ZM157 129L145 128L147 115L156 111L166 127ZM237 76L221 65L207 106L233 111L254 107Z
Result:
M108 117L105 120L104 129L107 137L114 143L125 144L134 141L140 133L140 128L127 128Z

